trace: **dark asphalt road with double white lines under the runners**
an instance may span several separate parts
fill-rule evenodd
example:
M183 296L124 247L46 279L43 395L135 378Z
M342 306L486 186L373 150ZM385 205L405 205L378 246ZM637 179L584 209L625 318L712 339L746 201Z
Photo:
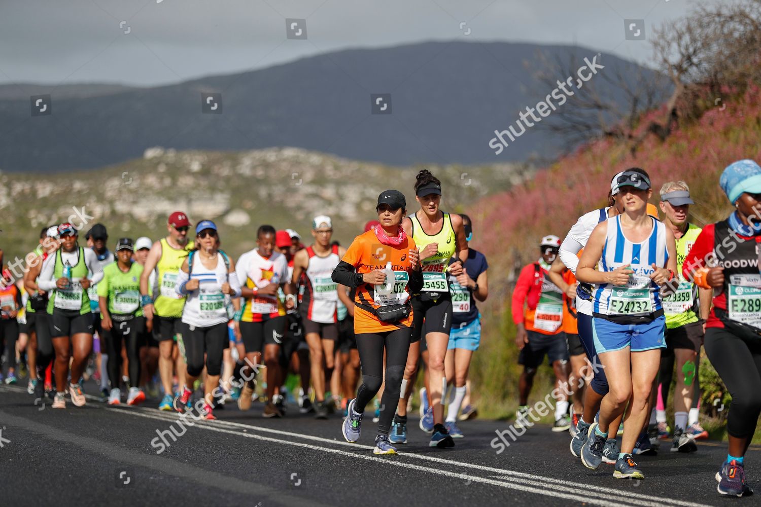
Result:
M180 426L157 403L53 410L21 386L0 386L0 505L720 505L714 475L725 445L701 442L691 455L641 457L644 481L589 471L568 451L568 433L535 426L497 455L490 442L507 423L460 424L454 449L428 448L410 420L397 456L372 454L375 425L365 417L357 444L329 420L289 414L263 419L215 410L216 421ZM297 411L295 407L291 411ZM180 436L158 432L174 427ZM152 442L152 443L151 443ZM161 452L159 452L161 451ZM749 452L749 483L757 481ZM755 469L755 470L754 470ZM761 495L738 500L758 505Z

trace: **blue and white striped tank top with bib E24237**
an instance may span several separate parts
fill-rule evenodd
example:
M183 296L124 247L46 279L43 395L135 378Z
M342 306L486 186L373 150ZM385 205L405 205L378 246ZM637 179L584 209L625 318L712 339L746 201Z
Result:
M602 284L597 287L594 292L595 313L640 317L662 308L661 295L658 293L660 287L650 279L650 274L653 272L653 263L664 268L668 261L666 226L654 218L652 220L650 237L635 243L623 235L620 215L607 219L607 237L597 269L613 271L629 264L634 273L626 285Z

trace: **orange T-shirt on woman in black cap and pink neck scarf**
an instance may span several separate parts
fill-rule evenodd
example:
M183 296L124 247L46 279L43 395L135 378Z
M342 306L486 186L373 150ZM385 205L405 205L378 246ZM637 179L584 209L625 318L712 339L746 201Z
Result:
M416 249L415 241L410 236L407 236L400 246L383 245L378 241L374 230L368 230L368 232L354 239L354 242L346 250L341 260L354 266L357 273L361 274L369 273L374 269L384 269L386 268L386 263L390 262L393 271L397 272L396 280L398 281L405 275L409 276L411 268L408 254L410 250L414 249ZM374 303L374 288L374 286L369 284L361 284L357 287L357 295L354 299L355 303L378 308L379 306ZM404 290L406 290L408 294L407 299L409 299L409 287L405 287ZM355 334L385 333L387 331L411 327L412 312L409 312L409 317L404 320L390 323L380 322L371 312L358 306L354 310Z

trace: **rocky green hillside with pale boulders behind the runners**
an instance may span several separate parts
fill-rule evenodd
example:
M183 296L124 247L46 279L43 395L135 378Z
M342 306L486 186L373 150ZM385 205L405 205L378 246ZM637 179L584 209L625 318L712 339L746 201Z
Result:
M419 209L415 176L423 167L347 160L300 148L243 152L175 151L152 147L143 157L100 170L0 174L0 248L5 263L24 258L40 229L63 221L84 232L103 223L109 248L120 237L167 234L167 217L185 211L193 223L215 220L222 248L234 258L252 249L263 223L298 230L310 242L312 217L333 217L334 236L348 246L365 222L377 218L377 196L395 188ZM441 179L442 208L463 212L493 192L533 174L526 166L425 166ZM81 226L81 227L80 227Z

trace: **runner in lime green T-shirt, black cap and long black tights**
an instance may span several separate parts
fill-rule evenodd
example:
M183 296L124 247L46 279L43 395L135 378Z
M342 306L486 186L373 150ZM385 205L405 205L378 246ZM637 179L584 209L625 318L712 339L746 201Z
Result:
M103 280L97 285L100 306L100 327L103 329L103 345L107 350L108 379L111 391L108 404L121 403L122 391L122 345L129 361L129 393L127 404L140 404L145 393L140 383L139 340L145 334L145 317L140 308L140 275L143 267L132 261L132 239L122 238L116 242L116 262L103 268Z

